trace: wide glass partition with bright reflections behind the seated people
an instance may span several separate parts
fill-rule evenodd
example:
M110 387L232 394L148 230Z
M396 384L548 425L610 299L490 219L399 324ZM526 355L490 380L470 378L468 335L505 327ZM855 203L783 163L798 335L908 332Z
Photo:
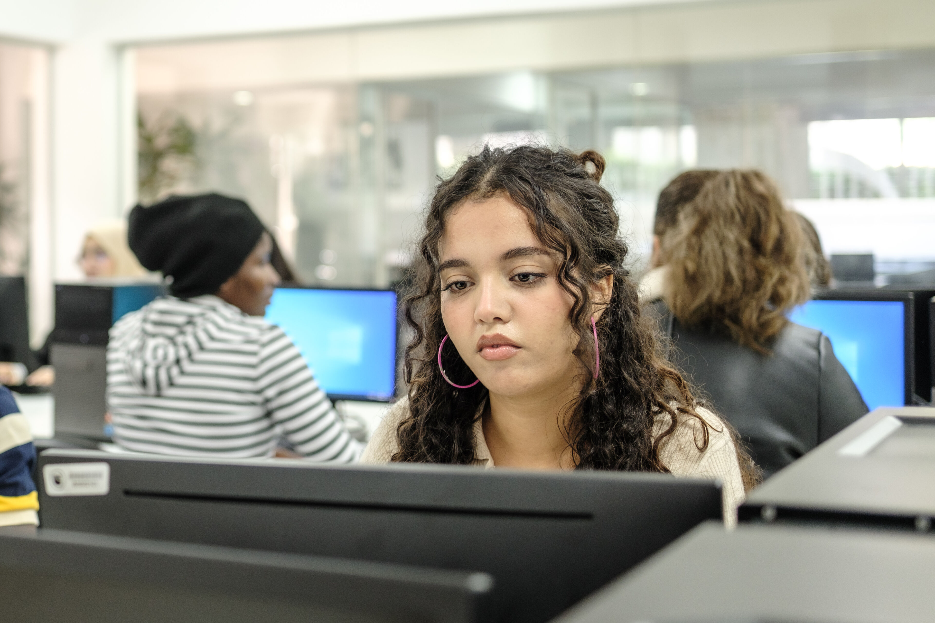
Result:
M873 252L883 272L935 267L935 51L380 83L145 83L141 200L244 197L309 283L396 281L439 176L485 144L521 143L604 154L635 268L651 248L658 191L692 167L764 170L829 253Z

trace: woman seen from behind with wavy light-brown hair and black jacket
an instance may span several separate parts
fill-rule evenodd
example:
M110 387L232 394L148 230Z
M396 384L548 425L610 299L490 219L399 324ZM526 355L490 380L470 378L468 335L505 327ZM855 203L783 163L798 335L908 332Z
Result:
M772 180L692 171L656 211L643 290L681 364L766 475L867 413L827 337L786 316L810 296L806 242Z

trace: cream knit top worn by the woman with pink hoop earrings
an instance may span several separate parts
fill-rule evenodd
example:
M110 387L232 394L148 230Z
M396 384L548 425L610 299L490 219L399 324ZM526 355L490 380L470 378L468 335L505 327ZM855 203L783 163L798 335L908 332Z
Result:
M382 464L393 459L399 450L396 442L396 427L409 414L409 401L400 400L383 418L373 433L370 443L364 449L361 463ZM659 448L659 458L677 476L689 476L720 480L724 497L724 517L727 526L737 523L737 507L743 502L743 481L741 468L737 462L734 441L727 432L721 418L711 411L698 408L700 415L711 425L708 447L702 452L697 444L702 440L701 423L696 418L682 418L678 428L672 432ZM669 415L661 414L656 418L653 434L657 436L669 428ZM474 464L485 469L494 467L487 442L483 437L481 419L474 426Z

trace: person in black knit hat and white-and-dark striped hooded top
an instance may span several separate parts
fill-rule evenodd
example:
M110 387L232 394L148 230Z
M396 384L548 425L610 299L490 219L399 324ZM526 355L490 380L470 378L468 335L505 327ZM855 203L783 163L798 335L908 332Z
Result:
M282 330L261 318L279 276L246 203L173 196L130 214L130 248L170 296L110 330L108 409L127 450L352 462L362 446Z

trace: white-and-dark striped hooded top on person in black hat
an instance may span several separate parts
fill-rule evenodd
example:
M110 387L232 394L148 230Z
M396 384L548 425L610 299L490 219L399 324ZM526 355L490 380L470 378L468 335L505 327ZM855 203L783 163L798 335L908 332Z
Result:
M108 410L128 450L352 462L352 439L282 330L216 296L166 297L110 330Z

